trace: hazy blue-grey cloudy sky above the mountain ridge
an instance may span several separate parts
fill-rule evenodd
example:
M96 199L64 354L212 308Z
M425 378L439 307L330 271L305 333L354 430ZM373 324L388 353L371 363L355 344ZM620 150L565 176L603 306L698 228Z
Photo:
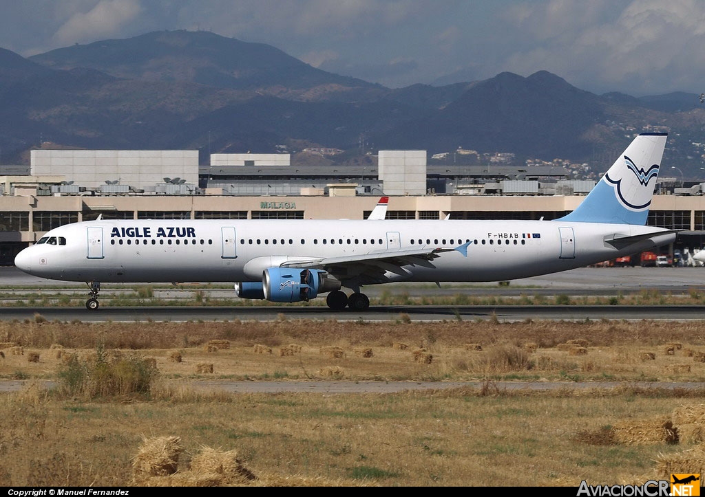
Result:
M705 92L705 0L0 0L23 56L157 30L276 46L387 87L548 70L590 92Z

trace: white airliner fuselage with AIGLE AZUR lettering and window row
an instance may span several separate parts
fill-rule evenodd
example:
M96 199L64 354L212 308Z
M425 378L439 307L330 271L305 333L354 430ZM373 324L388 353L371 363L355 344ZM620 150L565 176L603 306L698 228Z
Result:
M385 270L384 280L490 282L569 270L654 246L652 238L617 249L606 243L615 235L654 233L656 245L675 237L659 231L522 220L99 220L47 232L44 239L61 243L30 246L16 264L32 275L66 281L259 282L266 268L297 260L469 242L467 256L443 252L425 263ZM383 262L379 268L385 269ZM369 283L364 275L361 281Z

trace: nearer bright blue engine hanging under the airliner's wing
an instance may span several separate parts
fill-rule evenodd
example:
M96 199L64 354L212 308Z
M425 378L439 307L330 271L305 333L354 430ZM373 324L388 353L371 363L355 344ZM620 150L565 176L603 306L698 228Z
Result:
M264 298L272 302L300 302L325 291L341 288L341 282L325 271L298 268L267 268L262 273Z

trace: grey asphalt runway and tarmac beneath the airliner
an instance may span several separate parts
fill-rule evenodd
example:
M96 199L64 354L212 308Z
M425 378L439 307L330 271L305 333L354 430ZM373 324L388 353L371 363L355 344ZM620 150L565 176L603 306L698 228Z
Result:
M4 295L4 306L0 307L0 320L36 320L41 315L49 321L71 322L145 322L196 321L196 320L338 320L338 321L396 321L411 320L434 322L441 320L701 320L705 317L705 305L684 298L687 305L678 306L418 306L418 305L374 305L374 298L388 296L521 296L551 295L567 296L617 296L641 291L658 290L673 295L687 296L692 291L705 291L705 268L580 268L555 275L533 277L496 283L443 284L387 284L365 287L364 291L373 299L366 311L333 311L326 306L306 306L303 303L287 305L251 306L253 301L244 301L242 306L181 306L180 298L192 296L193 289L154 289L160 298L171 298L173 306L112 307L102 305L97 311L80 307L58 306L14 306L13 295L26 296L27 292L39 295L51 292L66 292L82 298L87 294L85 283L49 281L25 275L14 267L0 268L0 287ZM133 291L125 285L114 285L109 292ZM205 292L205 291L204 291ZM217 298L234 298L230 289L207 290L213 301ZM18 297L19 299L19 297ZM260 301L254 301L259 303Z

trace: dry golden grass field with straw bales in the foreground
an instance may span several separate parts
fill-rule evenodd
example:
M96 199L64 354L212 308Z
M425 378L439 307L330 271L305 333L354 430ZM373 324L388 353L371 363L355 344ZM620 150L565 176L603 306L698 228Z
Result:
M0 351L0 379L26 381L0 394L0 486L577 486L705 473L705 391L643 386L705 382L705 321L37 316L1 322ZM72 390L77 372L99 388ZM196 379L482 386L228 394Z

